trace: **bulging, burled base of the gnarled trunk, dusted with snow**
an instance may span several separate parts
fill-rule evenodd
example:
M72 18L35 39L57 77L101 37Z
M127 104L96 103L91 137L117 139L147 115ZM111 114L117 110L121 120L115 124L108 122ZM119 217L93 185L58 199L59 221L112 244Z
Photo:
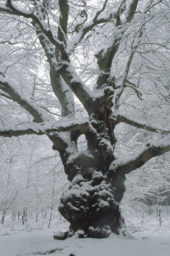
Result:
M86 169L86 175L78 173L69 190L61 196L58 207L70 222L69 231L58 233L55 239L64 240L80 232L81 236L91 238L107 238L111 233L119 235L124 227L119 208L124 180L117 179L117 185L119 189L101 171Z

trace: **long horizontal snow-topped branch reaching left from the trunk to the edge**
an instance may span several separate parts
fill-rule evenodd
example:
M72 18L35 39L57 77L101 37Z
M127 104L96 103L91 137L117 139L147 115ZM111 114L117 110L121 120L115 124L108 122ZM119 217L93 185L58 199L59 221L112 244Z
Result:
M89 129L89 121L77 118L63 118L55 123L46 122L41 124L25 123L18 126L0 126L0 136L2 137L18 137L22 135L53 135L53 132L70 132L80 130L85 132Z

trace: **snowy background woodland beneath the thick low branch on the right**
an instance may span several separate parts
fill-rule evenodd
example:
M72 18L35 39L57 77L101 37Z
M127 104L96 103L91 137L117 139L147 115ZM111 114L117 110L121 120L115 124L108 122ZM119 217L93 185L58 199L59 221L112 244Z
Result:
M143 217L158 217L158 208L165 214L169 210L169 155L155 157L134 171L126 179L126 193L121 202L125 212Z

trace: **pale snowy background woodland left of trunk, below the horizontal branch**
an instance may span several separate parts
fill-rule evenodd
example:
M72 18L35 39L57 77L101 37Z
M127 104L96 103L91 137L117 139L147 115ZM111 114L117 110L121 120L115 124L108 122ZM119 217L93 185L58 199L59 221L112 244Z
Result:
M56 218L61 190L68 181L52 143L36 135L1 137L0 143L0 221L13 216L22 224L34 219L43 225L44 219L50 222L52 213Z

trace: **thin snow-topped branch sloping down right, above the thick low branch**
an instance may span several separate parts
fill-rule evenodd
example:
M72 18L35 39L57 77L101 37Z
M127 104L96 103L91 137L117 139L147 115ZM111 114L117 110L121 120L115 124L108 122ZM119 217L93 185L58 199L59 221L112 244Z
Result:
M129 126L134 126L134 127L137 127L138 129L148 130L149 132L155 132L155 133L161 132L162 134L170 133L170 127L167 129L166 128L162 129L162 127L160 127L160 126L151 126L150 124L148 124L146 122L131 119L129 117L127 118L124 115L117 116L117 124L119 124L119 123L129 124Z

